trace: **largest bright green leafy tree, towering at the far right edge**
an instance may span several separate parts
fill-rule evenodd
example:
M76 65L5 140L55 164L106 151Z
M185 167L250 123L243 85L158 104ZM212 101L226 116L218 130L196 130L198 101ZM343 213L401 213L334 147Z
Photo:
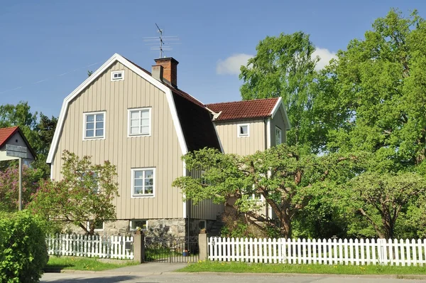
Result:
M376 169L400 171L425 159L426 23L391 10L324 70L314 112L329 124L329 151L369 151Z

